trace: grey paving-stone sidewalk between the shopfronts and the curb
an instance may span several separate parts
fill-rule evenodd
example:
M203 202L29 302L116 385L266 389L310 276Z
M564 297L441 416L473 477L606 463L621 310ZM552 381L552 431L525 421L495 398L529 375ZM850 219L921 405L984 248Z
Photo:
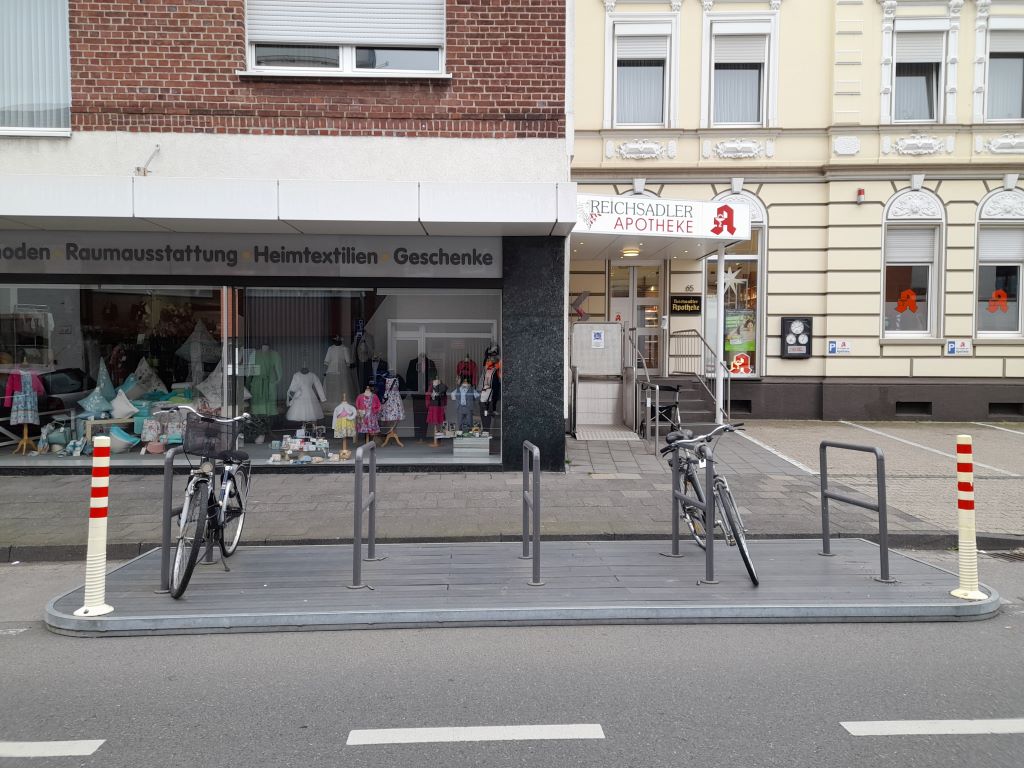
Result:
M671 473L643 442L584 443L568 438L567 457L565 473L545 473L542 478L545 537L669 535ZM820 536L816 475L738 436L720 441L718 459L753 538ZM351 540L352 474L272 474L262 466L255 471L246 542ZM86 476L69 475L0 477L0 560L84 557L88 482ZM521 482L518 472L381 473L378 538L517 540ZM177 495L183 485L184 477L177 476ZM131 557L160 541L161 497L160 476L115 471L111 557ZM948 546L954 541L955 519L936 524L927 515L890 506L889 529L898 544ZM834 504L831 530L836 536L873 538L878 518L873 512Z

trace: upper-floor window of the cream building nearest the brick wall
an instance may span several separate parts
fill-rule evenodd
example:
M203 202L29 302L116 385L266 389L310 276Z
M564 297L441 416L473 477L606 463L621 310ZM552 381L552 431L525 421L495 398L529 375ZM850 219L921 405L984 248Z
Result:
M614 123L665 125L669 25L615 25Z

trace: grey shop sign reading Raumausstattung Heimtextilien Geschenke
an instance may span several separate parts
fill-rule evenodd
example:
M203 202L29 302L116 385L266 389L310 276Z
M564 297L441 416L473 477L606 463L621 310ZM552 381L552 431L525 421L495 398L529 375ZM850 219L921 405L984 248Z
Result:
M501 238L0 230L0 274L501 278Z

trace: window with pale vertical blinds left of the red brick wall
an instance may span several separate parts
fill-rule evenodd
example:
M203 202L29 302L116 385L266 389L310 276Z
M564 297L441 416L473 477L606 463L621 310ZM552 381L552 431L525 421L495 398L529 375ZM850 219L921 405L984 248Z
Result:
M68 0L0 2L0 134L71 131Z

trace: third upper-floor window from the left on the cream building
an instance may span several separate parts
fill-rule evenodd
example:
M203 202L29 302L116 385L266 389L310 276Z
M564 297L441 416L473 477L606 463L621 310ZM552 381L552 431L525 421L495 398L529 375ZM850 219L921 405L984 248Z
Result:
M943 32L896 33L893 115L896 120L934 122L940 108Z

